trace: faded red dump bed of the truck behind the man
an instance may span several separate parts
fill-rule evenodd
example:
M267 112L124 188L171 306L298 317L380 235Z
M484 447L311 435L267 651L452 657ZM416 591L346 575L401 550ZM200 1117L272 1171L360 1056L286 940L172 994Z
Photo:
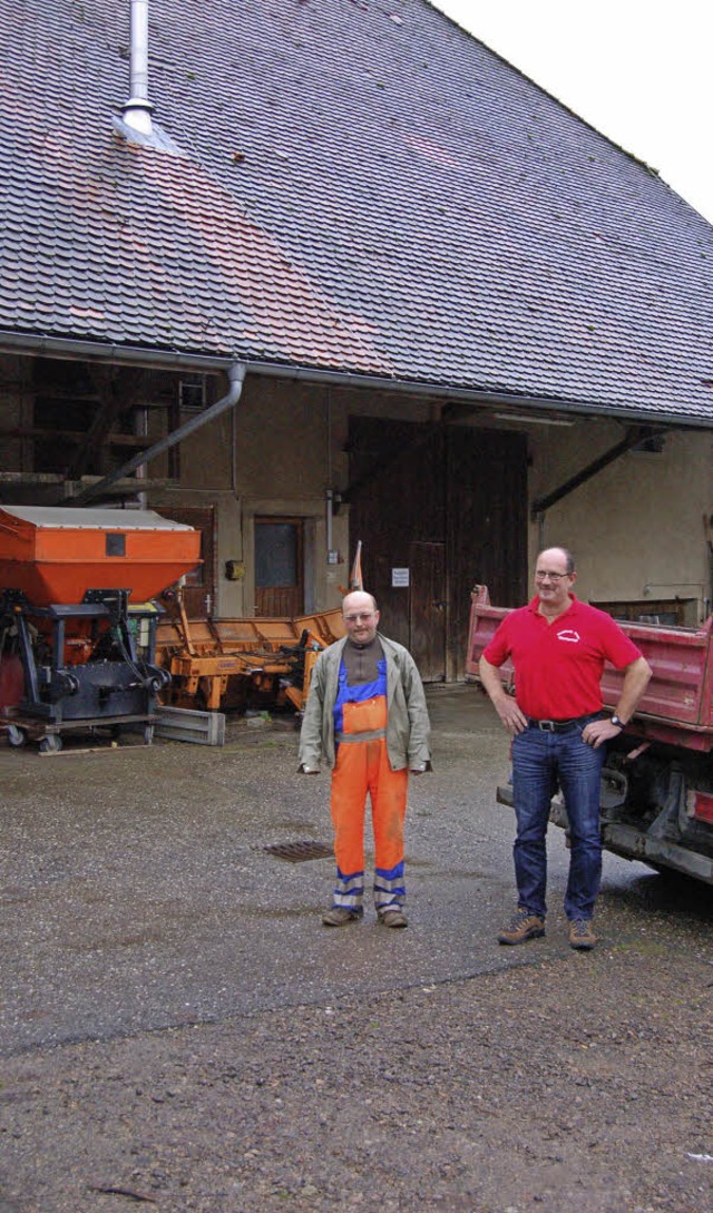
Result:
M478 676L478 662L507 606L490 603L486 586L470 594L470 627L466 672ZM637 733L650 740L684 745L689 750L713 748L713 688L711 684L711 637L713 616L701 627L664 627L620 620L622 630L639 647L654 676L637 708ZM513 679L512 666L501 670L503 680ZM609 664L604 668L601 693L614 708L622 676Z

